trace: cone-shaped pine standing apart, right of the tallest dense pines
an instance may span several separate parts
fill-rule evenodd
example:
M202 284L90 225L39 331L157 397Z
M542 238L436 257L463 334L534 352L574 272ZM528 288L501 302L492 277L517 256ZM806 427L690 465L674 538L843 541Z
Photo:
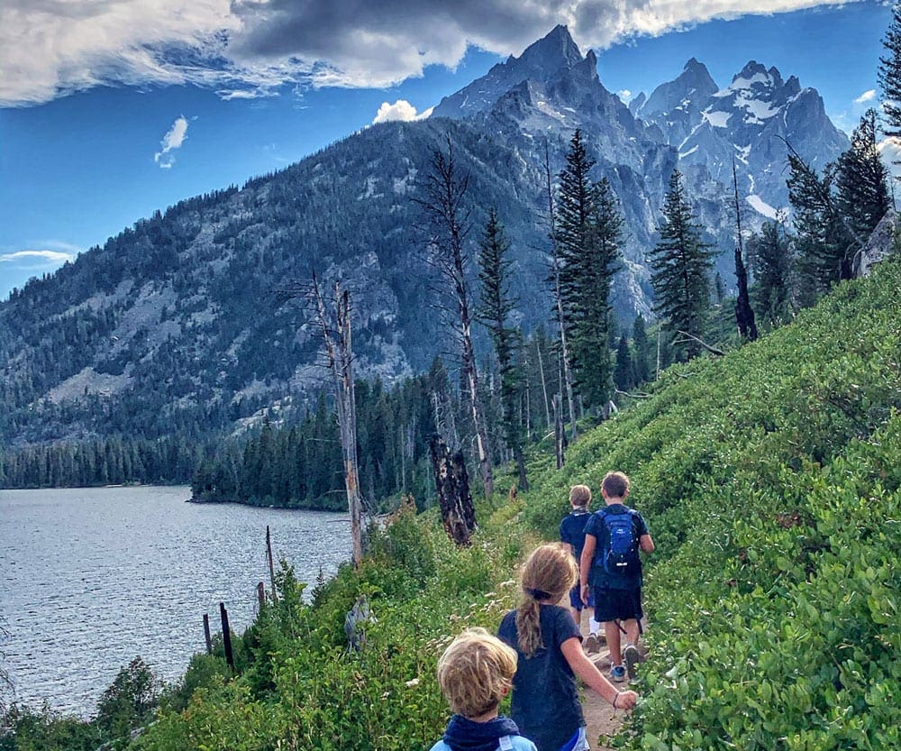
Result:
M651 251L654 310L670 331L700 339L710 307L710 270L714 251L701 241L691 206L682 185L682 173L673 169L664 199L660 242ZM689 339L686 354L694 357L700 345Z

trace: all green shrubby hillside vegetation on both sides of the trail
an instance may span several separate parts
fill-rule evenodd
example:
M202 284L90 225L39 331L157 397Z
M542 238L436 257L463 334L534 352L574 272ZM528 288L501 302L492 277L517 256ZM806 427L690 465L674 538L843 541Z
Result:
M480 506L469 549L406 510L312 605L283 572L282 599L238 640L239 675L196 657L130 747L429 748L447 719L441 648L465 626L496 628L516 563L556 538L569 485L597 490L610 469L632 477L658 544L645 700L616 743L901 746L899 308L901 268L885 264L758 343L668 371L562 471L542 456L529 493ZM361 593L378 622L349 652L344 613Z

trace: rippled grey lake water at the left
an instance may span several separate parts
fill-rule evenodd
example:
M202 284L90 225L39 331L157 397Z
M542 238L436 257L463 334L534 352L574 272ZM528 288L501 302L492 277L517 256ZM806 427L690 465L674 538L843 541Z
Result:
M0 623L15 698L83 716L135 655L168 681L219 602L241 632L278 563L314 586L350 560L347 514L185 503L190 489L0 490Z

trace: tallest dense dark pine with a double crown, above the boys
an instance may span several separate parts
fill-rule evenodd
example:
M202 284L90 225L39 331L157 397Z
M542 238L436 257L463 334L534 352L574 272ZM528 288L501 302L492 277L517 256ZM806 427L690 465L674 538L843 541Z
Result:
M589 407L602 407L612 393L609 298L623 218L610 183L589 179L594 165L577 130L560 172L556 226L575 382Z

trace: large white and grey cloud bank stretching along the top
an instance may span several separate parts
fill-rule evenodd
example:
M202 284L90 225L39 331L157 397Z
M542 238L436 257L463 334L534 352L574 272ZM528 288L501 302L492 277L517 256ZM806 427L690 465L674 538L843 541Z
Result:
M196 84L265 96L297 81L387 87L454 68L470 45L502 55L557 23L583 50L714 18L845 0L4 0L0 106L108 85ZM241 92L250 92L241 94Z

